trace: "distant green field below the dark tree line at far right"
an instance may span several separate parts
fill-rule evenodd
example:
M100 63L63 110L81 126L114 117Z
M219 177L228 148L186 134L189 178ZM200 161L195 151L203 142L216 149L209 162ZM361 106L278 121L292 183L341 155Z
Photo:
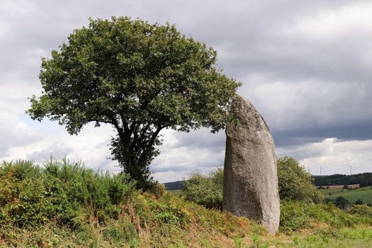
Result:
M322 193L324 193L325 198L327 199L335 199L339 196L347 199L351 203L354 203L356 200L361 200L363 203L370 203L372 204L372 188L371 186L357 188L352 190L341 189L341 188L325 188L320 189ZM329 192L332 196L329 196Z

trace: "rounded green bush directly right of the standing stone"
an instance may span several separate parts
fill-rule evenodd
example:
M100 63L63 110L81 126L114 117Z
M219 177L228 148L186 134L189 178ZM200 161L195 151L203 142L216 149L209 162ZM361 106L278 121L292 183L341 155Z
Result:
M320 203L323 195L312 184L312 176L292 157L277 160L279 196L286 201Z

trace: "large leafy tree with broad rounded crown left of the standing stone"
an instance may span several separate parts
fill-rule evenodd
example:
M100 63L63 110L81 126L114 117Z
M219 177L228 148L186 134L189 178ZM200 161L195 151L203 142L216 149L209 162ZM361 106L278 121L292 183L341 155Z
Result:
M240 85L216 68L212 47L169 23L128 17L90 19L41 68L43 92L30 98L31 118L56 120L70 135L90 122L113 125L113 159L140 188L151 186L160 132L225 128Z

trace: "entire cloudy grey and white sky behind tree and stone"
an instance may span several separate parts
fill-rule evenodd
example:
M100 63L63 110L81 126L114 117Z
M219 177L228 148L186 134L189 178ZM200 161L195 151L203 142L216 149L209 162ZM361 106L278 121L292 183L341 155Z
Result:
M0 161L50 157L103 171L113 128L31 120L28 97L41 94L41 57L67 41L88 18L130 16L175 23L181 33L218 51L218 67L242 82L238 93L269 125L278 157L312 174L372 171L371 1L78 1L1 0ZM225 133L165 130L151 169L160 182L222 166Z

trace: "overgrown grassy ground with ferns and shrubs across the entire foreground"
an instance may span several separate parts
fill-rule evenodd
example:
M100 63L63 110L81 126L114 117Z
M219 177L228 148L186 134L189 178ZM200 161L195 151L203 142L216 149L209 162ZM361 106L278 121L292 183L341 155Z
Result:
M159 187L161 188L161 187ZM141 193L125 175L50 160L0 165L0 247L372 247L372 216L284 202L281 227Z

